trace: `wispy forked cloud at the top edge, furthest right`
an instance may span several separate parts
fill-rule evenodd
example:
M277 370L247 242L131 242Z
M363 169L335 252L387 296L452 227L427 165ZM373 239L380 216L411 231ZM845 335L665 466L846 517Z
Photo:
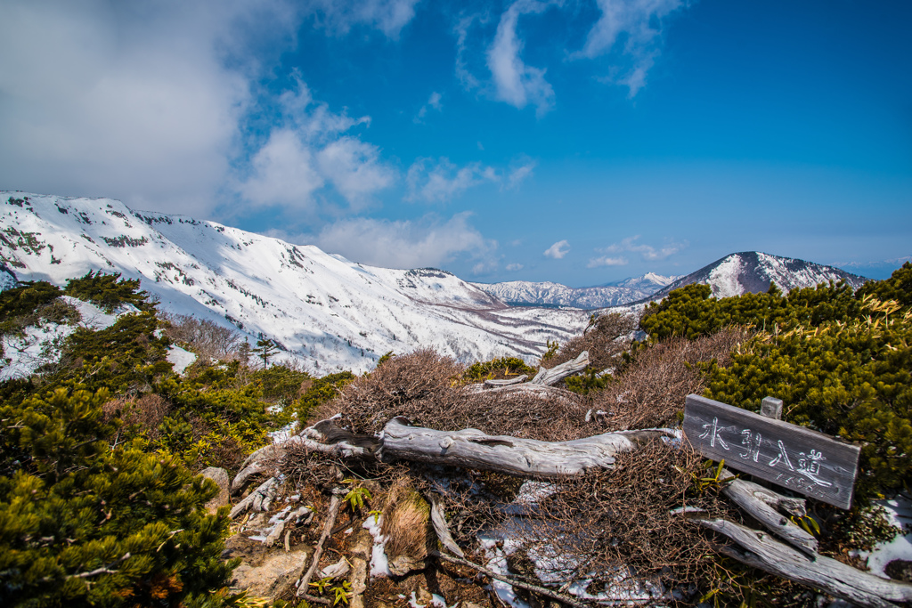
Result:
M646 75L658 56L662 20L684 6L685 0L596 0L602 15L589 30L578 57L609 53L623 40L623 54L631 67L617 79L630 90L630 97L646 85Z

